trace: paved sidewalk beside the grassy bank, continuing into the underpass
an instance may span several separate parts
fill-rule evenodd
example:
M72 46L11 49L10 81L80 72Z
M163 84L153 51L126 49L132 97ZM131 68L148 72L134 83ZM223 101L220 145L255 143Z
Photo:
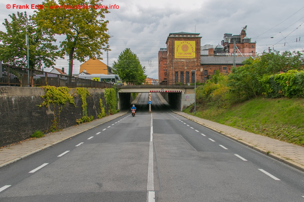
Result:
M158 93L158 97L164 104L170 107L170 105L165 101L161 94ZM198 118L179 110L174 110L172 108L170 109L175 114L179 114L202 126L208 127L211 130L218 132L219 134L240 142L254 150L257 150L263 154L282 161L285 164L304 171L304 147L272 139L270 137L242 131L237 128Z

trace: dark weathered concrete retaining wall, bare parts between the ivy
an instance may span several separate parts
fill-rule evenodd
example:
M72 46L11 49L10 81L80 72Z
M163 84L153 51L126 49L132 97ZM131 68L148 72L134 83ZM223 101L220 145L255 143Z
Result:
M87 113L94 119L100 113L99 98L105 105L108 114L109 106L105 103L104 89L88 89ZM74 93L72 88L70 93ZM53 124L54 114L58 113L58 106L48 108L37 105L43 102L42 88L0 86L0 146L12 144L29 137L34 131L48 131ZM76 124L76 119L82 117L80 96L74 98L77 106L68 103L63 106L60 114L59 128L66 128ZM58 121L57 121L58 122Z

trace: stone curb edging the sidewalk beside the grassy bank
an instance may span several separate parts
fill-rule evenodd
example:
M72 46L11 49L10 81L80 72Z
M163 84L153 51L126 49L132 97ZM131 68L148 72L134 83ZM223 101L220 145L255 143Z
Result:
M171 108L169 108L169 109L171 110ZM171 111L172 111L172 110L171 110ZM172 111L172 112L173 112L174 114L178 114L177 112L174 112L174 111ZM180 116L182 116L182 117L184 117L184 118L187 118L187 119L189 119L190 121L193 121L193 122L195 122L195 123L197 123L197 124L199 124L199 125L201 125L201 126L203 126L203 127L206 127L206 128L208 128L208 129L210 129L210 130L212 130L212 131L214 131L214 132L216 132L216 133L218 133L218 134L221 134L221 135L223 135L223 136L225 136L225 137L228 137L228 138L230 138L230 139L232 139L232 140L234 140L234 141L237 141L237 142L239 142L239 143L241 143L241 144L243 144L243 145L245 145L245 146L247 146L247 147L250 147L251 149L254 149L255 151L258 151L258 152L260 152L260 153L262 153L262 154L268 155L269 157L272 157L272 158L274 158L274 159L276 159L276 160L278 160L278 161L281 161L282 163L285 163L285 164L287 164L287 165L289 165L289 166L291 166L291 167L294 167L294 168L296 168L296 169L298 169L298 170L304 172L304 166L301 165L301 164L298 164L298 163L293 162L293 161L291 161L291 160L286 160L286 159L280 157L280 156L277 155L277 154L268 153L268 151L265 151L265 150L263 150L263 149L261 149L261 148L259 148L259 147L255 147L254 145L249 144L249 143L247 143L247 142L244 142L244 141L242 141L242 140L238 140L237 138L235 138L235 137L233 137L233 136L230 136L230 135L221 133L220 131L218 131L218 130L216 130L216 129L213 129L213 128L211 128L211 127L208 127L208 126L206 126L205 124L201 124L201 123L199 123L198 121L192 120L192 119L190 119L190 118L188 118L188 117L186 117L186 116L184 116L184 115L181 115L181 114L178 114L178 115L180 115Z

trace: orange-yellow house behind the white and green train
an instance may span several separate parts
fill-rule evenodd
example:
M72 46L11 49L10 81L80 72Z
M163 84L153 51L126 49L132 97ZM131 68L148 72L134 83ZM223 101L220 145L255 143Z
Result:
M88 61L80 65L79 73L86 71L88 74L109 74L112 73L111 69L105 63L96 59L90 58Z

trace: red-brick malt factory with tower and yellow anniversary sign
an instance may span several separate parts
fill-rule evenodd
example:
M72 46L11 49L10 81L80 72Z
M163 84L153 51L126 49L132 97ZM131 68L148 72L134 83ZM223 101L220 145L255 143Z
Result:
M206 82L215 70L229 74L233 64L242 66L249 57L255 57L255 42L246 36L245 26L240 35L224 34L221 45L200 45L199 33L170 33L166 44L158 52L158 80L161 83ZM236 56L233 59L235 41ZM166 71L167 69L167 71ZM196 72L191 72L195 70Z

